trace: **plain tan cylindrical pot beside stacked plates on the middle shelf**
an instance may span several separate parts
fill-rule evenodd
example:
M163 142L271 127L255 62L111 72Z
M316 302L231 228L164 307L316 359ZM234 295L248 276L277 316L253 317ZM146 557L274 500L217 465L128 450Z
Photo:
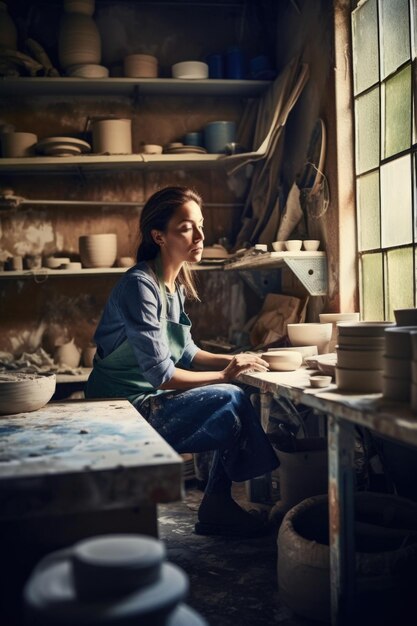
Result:
M94 120L91 128L96 154L132 154L132 120Z

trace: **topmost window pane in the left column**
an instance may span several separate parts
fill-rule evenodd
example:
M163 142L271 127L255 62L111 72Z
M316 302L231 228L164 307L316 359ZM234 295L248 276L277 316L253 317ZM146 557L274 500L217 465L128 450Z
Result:
M368 0L353 11L352 39L353 81L357 94L379 80L376 0Z

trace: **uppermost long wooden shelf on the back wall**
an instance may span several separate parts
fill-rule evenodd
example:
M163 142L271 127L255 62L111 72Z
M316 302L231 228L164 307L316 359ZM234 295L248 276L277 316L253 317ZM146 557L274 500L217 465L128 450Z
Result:
M242 96L256 97L268 80L19 77L0 79L0 96Z

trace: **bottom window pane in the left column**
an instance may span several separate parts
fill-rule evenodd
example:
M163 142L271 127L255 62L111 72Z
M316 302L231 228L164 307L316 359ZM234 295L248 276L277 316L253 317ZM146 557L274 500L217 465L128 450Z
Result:
M380 321L384 319L382 254L364 254L361 259L362 275L362 319Z

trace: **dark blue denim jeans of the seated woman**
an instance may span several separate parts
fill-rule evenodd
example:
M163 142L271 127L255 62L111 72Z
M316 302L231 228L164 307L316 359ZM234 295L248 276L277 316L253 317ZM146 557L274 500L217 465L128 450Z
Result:
M138 410L178 453L215 451L206 493L279 464L249 398L236 385L169 391Z

